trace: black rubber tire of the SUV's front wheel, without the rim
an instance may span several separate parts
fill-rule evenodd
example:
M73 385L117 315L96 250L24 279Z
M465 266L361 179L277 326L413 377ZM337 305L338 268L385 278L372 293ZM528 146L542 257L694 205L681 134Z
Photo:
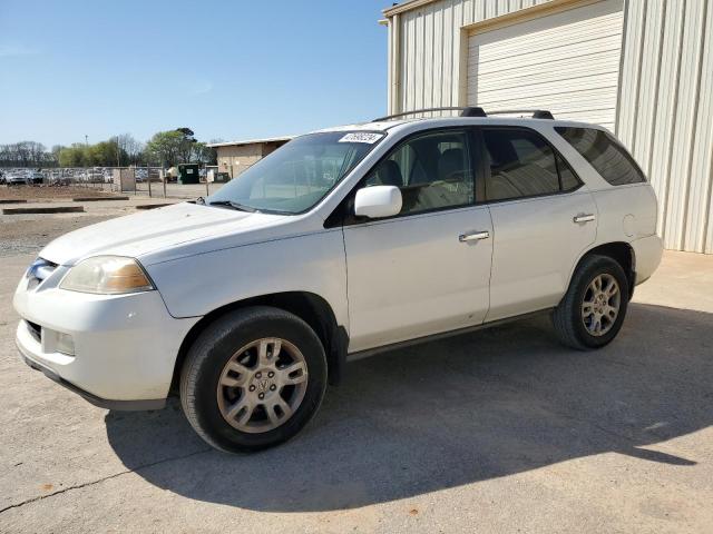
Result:
M218 380L236 350L266 337L285 339L300 349L307 368L306 390L292 416L276 428L241 432L221 413ZM290 439L318 412L325 388L326 358L320 338L297 316L267 306L238 309L211 324L188 350L180 373L180 403L188 422L205 442L228 453L260 451Z

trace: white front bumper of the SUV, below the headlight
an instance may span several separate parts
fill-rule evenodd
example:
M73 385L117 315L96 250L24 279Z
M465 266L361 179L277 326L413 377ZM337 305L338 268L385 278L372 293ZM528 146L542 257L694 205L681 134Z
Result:
M180 344L198 318L172 317L158 291L107 296L43 286L28 289L23 279L13 298L25 362L98 406L162 407ZM58 333L72 337L74 355L56 349Z

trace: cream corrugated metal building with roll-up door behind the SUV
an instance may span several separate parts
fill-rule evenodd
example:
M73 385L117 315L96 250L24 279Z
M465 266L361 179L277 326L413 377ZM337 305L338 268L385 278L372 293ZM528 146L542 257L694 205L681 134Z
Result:
M654 185L665 246L713 254L713 1L410 0L384 16L390 112L604 125Z

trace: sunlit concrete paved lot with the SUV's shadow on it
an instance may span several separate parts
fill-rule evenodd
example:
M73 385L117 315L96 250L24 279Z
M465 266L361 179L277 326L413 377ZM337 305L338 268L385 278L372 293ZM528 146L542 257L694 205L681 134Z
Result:
M32 257L0 257L1 532L713 532L713 257L666 254L598 353L538 318L350 364L251 456L20 363Z

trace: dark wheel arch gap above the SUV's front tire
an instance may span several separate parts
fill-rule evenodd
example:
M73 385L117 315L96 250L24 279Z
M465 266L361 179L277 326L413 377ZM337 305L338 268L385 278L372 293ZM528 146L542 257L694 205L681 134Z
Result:
M180 379L180 369L188 349L201 333L225 314L251 306L272 306L296 315L316 333L326 356L329 383L338 385L343 375L346 359L349 335L346 329L338 325L336 316L330 304L321 296L309 291L283 291L260 295L226 304L206 314L188 330L184 337L174 364L170 390L176 392Z

